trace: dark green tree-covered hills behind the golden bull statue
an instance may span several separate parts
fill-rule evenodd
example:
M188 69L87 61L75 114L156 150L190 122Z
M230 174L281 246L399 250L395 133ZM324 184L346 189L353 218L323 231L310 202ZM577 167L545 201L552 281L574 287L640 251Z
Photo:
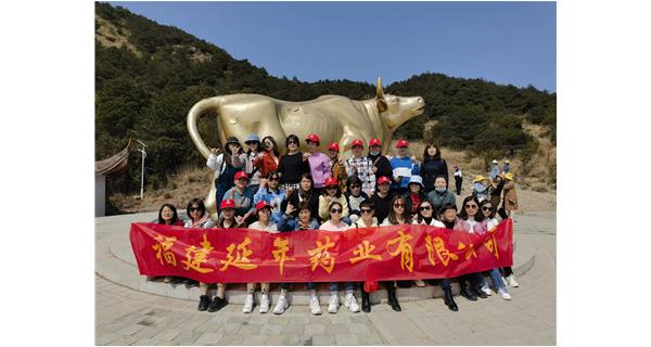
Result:
M425 115L405 124L396 137L433 140L485 157L531 157L539 141L526 131L526 121L540 126L541 136L556 145L556 93L431 73L385 91L421 95L426 103ZM359 100L373 95L374 86L270 76L176 27L95 3L95 159L118 152L128 138L140 139L149 145L149 189L158 189L178 168L203 166L186 129L188 110L204 98L239 92L290 101L327 93ZM214 127L200 124L208 143L217 141ZM131 160L138 157L136 152ZM140 166L130 165L127 175L107 182L107 194L133 192L139 183Z

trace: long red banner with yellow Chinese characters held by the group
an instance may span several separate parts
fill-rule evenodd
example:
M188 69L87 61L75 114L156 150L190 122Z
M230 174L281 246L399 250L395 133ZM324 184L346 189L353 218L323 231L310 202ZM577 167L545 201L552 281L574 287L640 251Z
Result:
M132 223L140 274L205 283L455 278L513 264L511 219L485 234L429 226L267 233Z

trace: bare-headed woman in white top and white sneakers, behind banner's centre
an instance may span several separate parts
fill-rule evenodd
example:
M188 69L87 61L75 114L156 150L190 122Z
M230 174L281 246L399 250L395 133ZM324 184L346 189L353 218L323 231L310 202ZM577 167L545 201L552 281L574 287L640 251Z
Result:
M345 211L345 207L334 201L330 203L328 208L330 213L330 218L319 227L319 230L324 231L346 231L348 230L348 224L342 220L343 214ZM357 299L355 298L355 284L353 282L346 282L346 298L344 300L344 306L346 306L350 312L359 312L359 305L357 304ZM310 287L311 286L311 287ZM314 288L314 283L308 283L308 290ZM336 313L339 309L339 283L330 283L330 301L328 305L329 313Z

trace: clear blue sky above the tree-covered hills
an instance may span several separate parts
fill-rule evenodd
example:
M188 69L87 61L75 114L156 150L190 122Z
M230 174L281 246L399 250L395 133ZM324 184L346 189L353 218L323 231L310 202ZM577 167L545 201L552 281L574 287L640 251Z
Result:
M383 83L424 72L556 91L556 2L111 2L273 76Z

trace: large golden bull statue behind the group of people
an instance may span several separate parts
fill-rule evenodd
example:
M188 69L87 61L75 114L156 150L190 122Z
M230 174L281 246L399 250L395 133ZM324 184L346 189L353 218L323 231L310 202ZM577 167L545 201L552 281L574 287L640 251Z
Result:
M284 139L296 134L301 139L301 151L307 151L304 139L316 133L321 139L321 149L332 142L339 143L342 153L352 147L353 140L361 139L367 145L370 139L382 142L386 153L394 131L405 121L422 115L425 103L421 97L396 97L384 94L382 80L378 78L373 99L350 100L341 95L322 95L315 100L292 102L259 94L231 94L204 99L188 113L188 130L192 141L208 157L210 151L199 134L199 117L217 115L219 139L226 143L228 137L243 141L248 134L260 138L273 137L279 150L284 153ZM217 174L216 174L217 175ZM206 197L206 208L216 217L216 189L213 184Z

